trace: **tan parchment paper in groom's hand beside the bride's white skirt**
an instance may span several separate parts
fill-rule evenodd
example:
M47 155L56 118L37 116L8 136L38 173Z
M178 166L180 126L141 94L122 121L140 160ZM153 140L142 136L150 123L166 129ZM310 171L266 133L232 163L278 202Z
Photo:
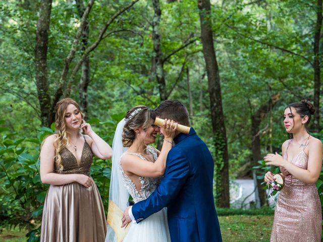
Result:
M121 218L123 216L122 210L112 201L109 201L109 211L107 212L107 224L109 224L112 229L115 231L117 236L117 242L122 242L123 238L126 236L130 223L128 223L125 227L121 227L122 222Z

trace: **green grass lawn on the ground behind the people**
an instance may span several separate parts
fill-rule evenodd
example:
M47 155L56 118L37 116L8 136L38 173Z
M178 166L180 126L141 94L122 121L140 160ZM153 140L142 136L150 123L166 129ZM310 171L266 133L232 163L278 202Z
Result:
M220 227L224 242L269 241L271 237L273 215L232 215L220 216ZM26 241L26 231L4 229L0 241Z

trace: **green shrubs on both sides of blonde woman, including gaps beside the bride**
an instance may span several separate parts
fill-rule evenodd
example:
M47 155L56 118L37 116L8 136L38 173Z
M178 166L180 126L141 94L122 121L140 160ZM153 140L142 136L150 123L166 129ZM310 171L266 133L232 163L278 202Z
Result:
M115 130L120 115L114 115L114 121L101 122L92 118L89 123L93 129L99 126L103 133L107 127ZM1 121L1 125L5 122ZM53 125L52 125L53 127ZM48 185L41 183L39 174L39 150L45 137L53 130L42 127L35 138L17 139L16 132L0 127L3 134L0 140L0 228L16 227L27 229L28 241L38 241L43 203ZM100 133L100 132L99 132ZM110 144L113 132L102 136ZM111 177L111 161L94 158L91 176L100 192L103 206L107 211Z

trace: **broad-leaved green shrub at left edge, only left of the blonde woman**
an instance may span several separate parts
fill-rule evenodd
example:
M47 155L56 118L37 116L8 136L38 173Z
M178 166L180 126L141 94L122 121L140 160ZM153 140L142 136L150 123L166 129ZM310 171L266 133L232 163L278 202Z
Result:
M5 122L1 122L5 123ZM0 140L0 227L26 228L29 241L39 236L39 223L46 185L39 174L39 147L43 138L53 131L40 128L37 138L17 139L16 132L1 127Z

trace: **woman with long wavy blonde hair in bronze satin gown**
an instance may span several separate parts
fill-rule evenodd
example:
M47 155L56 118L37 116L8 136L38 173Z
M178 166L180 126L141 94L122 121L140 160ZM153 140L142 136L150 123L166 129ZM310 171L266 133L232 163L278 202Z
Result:
M105 214L90 166L93 154L108 159L112 149L83 117L73 99L59 101L56 134L43 142L40 177L50 186L43 208L40 241L100 242L105 239Z

